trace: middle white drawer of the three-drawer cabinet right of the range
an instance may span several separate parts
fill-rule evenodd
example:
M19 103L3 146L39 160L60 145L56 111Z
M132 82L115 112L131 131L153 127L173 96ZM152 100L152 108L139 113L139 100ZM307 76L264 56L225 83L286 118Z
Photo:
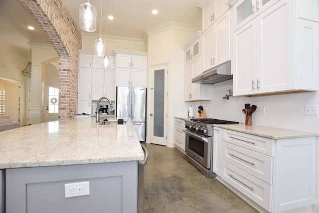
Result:
M272 157L223 141L222 159L272 185Z

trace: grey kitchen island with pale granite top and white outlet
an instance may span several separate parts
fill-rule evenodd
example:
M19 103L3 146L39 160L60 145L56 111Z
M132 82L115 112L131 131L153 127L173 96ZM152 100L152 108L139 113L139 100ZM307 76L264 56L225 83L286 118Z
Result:
M102 125L95 120L1 132L0 210L5 194L6 213L136 212L138 161L144 152L132 122ZM65 198L65 184L82 182L89 182L89 189L80 189L89 195Z

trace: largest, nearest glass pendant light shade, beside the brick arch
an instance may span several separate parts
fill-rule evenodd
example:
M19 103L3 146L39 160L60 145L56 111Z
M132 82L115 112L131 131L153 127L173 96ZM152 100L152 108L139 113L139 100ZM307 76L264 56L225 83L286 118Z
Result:
M96 30L96 8L88 2L80 5L80 21L81 29L87 32L94 32Z

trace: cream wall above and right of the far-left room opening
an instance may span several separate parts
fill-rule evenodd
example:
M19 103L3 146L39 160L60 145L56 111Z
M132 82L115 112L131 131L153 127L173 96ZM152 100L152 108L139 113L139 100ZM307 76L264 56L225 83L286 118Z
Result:
M29 78L21 74L21 70L25 68L29 55L21 52L11 45L0 43L0 79L20 83L20 121L21 125L27 124L26 103L27 89L26 85Z

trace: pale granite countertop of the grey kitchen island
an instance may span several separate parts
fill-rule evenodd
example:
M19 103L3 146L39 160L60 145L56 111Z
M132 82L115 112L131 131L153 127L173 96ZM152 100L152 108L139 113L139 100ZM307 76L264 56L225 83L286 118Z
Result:
M144 159L131 120L60 120L0 132L0 169L94 164Z

